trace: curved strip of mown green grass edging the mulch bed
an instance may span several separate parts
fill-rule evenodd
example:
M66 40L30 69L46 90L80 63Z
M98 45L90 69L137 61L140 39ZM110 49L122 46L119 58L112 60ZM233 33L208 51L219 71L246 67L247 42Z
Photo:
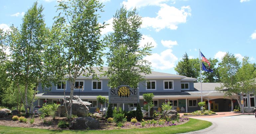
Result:
M190 121L177 126L170 126L170 127L154 127L154 128L142 128L142 129L123 129L123 130L48 130L48 129L38 129L38 128L23 128L23 127L9 127L9 126L0 126L0 133L1 134L81 134L81 133L136 133L136 134L150 134L150 133L168 133L168 134L175 134L175 133L186 133L196 130L201 130L207 128L211 125L211 122L198 120L190 118Z

